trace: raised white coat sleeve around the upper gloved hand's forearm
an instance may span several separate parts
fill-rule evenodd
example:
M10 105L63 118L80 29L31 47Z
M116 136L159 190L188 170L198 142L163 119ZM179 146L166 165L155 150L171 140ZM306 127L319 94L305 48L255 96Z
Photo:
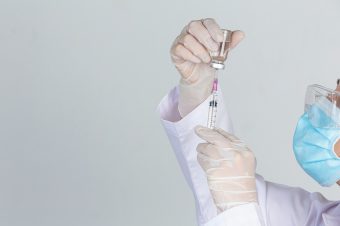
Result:
M178 99L179 90L176 87L163 98L158 111L181 170L193 191L197 203L198 219L203 225L215 217L217 211L206 176L197 161L196 147L202 140L196 136L194 128L197 125L206 125L209 99L198 105L184 118L179 116ZM232 125L222 97L219 106L216 125L231 132Z

